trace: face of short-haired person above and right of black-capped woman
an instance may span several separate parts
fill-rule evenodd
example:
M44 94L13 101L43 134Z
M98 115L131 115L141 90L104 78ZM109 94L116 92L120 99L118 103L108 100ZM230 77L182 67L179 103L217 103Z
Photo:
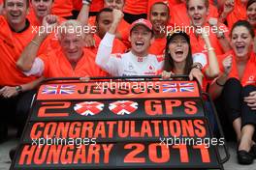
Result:
M208 7L205 0L189 0L187 2L187 13L193 26L204 26L208 17Z

